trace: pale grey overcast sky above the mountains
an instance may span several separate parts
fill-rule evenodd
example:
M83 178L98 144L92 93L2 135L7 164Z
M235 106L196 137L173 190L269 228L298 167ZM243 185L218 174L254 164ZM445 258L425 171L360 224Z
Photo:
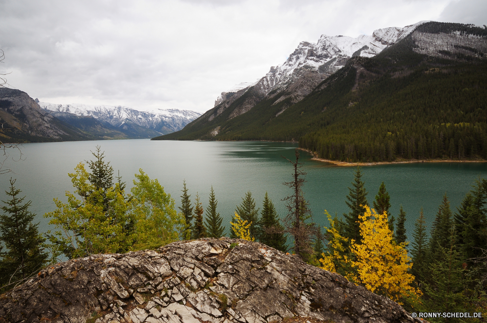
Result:
M60 104L204 112L301 41L420 20L487 24L487 0L0 0L0 72Z

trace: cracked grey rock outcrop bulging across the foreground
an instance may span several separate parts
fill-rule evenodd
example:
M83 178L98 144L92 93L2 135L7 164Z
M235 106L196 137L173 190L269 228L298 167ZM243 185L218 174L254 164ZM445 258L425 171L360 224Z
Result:
M417 322L388 298L261 243L202 239L57 264L0 297L3 322ZM0 322L2 320L0 319Z

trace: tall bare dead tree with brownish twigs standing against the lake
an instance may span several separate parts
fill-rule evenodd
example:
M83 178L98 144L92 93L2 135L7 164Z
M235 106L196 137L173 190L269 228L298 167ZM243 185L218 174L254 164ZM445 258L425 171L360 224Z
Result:
M294 238L294 247L291 248L301 259L307 260L313 253L313 241L320 235L319 229L313 222L313 213L309 208L309 202L304 198L302 186L306 182L304 177L306 172L302 170L302 162L299 162L300 153L296 149L296 162L282 156L288 162L293 164L293 180L284 182L283 185L291 188L293 194L282 199L286 202L287 215L284 218L286 229L284 232L289 233Z

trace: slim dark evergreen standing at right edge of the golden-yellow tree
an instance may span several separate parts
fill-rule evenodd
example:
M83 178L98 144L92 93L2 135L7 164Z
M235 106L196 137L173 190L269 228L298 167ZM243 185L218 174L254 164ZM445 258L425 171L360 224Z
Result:
M423 215L423 208L419 211L419 217L414 223L414 233L412 233L414 240L412 241L412 268L411 273L415 277L415 281L420 285L426 278L425 271L428 266L427 252L428 252L428 238L426 233L426 220Z

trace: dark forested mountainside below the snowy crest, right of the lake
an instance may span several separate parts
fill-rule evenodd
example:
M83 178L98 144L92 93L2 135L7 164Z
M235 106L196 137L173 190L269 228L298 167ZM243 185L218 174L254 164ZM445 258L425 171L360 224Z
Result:
M316 72L266 95L249 88L154 139L299 141L343 161L486 159L486 53L485 28L422 23L373 57L351 57L302 98Z

